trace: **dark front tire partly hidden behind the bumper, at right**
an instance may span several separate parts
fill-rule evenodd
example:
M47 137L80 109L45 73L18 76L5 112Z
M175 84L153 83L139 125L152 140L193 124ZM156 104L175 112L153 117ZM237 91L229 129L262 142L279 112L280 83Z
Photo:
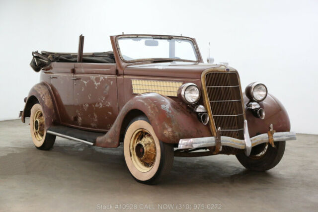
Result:
M266 143L263 145L263 149L259 149L262 147L262 144L259 146L254 146L251 154L247 157L244 153L237 154L237 158L239 162L249 170L254 171L266 171L271 168L274 168L279 161L282 159L285 151L286 141L277 141L274 142L275 147L272 147L271 144Z

